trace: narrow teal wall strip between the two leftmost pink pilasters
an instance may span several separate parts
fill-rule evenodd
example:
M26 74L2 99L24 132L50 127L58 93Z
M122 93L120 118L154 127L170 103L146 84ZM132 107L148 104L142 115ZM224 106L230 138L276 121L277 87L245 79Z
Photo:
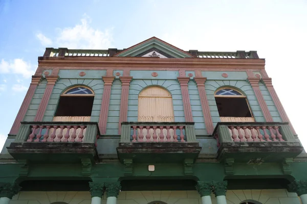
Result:
M42 95L45 92L46 85L47 85L46 79L41 81L38 84L38 86L37 86L37 88L34 92L33 98L31 100L30 106L27 110L24 121L33 121L34 120L35 115L36 115L37 110L38 110L38 106L39 106L41 98L42 98Z

